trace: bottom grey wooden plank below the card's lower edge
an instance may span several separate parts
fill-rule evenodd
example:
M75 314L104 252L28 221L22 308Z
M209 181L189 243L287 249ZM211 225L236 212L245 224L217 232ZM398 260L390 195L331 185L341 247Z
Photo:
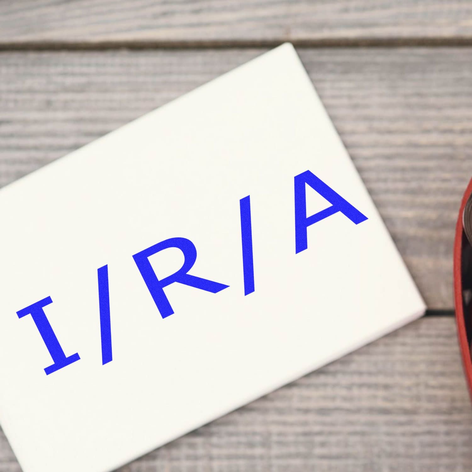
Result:
M472 408L454 319L433 317L119 472L469 472L471 444ZM20 472L1 433L0 472Z

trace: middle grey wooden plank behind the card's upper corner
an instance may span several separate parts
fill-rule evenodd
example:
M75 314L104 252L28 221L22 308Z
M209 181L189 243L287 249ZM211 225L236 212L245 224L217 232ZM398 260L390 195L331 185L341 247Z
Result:
M0 185L261 52L0 53ZM428 306L452 308L454 225L472 175L472 49L299 52Z

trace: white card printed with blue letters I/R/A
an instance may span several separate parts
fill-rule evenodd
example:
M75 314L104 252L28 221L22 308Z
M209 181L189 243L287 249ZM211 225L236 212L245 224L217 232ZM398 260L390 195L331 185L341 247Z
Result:
M425 308L290 44L8 185L0 220L25 472L110 471Z

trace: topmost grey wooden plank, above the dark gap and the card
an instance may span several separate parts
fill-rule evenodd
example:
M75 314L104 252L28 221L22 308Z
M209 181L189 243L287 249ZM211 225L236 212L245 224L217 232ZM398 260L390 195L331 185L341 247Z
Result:
M467 0L3 0L0 45L472 39Z

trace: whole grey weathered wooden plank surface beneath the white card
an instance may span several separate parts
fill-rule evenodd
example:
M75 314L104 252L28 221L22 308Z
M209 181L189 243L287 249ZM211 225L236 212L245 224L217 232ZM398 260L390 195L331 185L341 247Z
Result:
M472 176L472 2L4 0L0 186L285 40L299 45L429 308L448 316L119 472L470 471L472 410L450 315L454 223ZM0 434L0 472L19 471Z

